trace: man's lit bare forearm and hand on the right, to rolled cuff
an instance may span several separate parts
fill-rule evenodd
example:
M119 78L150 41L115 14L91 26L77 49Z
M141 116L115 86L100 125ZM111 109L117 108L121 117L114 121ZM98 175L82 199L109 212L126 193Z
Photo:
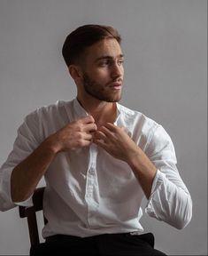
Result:
M94 142L110 155L127 162L140 182L145 196L150 198L151 186L157 169L143 150L127 135L125 129L110 123L105 124L99 131L96 131Z

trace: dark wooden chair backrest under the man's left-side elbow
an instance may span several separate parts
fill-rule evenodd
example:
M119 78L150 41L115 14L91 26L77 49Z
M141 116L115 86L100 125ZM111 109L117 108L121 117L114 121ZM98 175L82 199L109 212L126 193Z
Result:
M19 206L19 216L20 218L27 218L27 225L29 229L29 238L30 244L40 244L40 238L38 233L36 212L42 211L42 197L45 188L36 188L33 199L33 206ZM42 214L43 215L43 214ZM43 216L44 218L44 216ZM47 220L44 218L44 223L47 223Z

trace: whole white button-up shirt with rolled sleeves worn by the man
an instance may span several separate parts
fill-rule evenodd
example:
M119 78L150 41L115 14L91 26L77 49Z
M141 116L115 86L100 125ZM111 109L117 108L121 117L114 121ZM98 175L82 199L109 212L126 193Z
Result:
M175 228L184 228L191 219L192 202L176 168L172 140L161 125L143 114L119 103L117 110L114 124L126 127L128 135L158 169L145 212ZM75 99L38 108L25 118L13 150L0 169L0 210L17 205L11 198L13 168L51 133L87 115ZM43 211L48 223L42 230L43 237L143 231L143 189L129 165L103 148L91 144L59 153L44 178ZM20 204L30 205L31 197Z

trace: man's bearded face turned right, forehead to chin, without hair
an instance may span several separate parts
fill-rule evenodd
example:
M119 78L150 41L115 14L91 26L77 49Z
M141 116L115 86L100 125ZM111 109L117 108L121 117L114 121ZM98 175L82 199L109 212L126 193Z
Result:
M115 39L104 39L90 46L82 68L85 92L96 100L119 101L124 76L123 59Z

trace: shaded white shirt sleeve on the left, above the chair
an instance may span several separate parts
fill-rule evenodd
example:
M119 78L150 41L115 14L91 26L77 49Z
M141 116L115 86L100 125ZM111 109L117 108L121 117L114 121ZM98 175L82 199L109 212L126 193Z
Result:
M28 115L24 123L18 129L17 138L14 141L13 149L6 162L0 168L0 211L7 211L17 205L31 206L32 196L24 202L15 204L11 196L11 176L13 168L29 156L39 141L37 133L39 132L37 116L35 112Z

